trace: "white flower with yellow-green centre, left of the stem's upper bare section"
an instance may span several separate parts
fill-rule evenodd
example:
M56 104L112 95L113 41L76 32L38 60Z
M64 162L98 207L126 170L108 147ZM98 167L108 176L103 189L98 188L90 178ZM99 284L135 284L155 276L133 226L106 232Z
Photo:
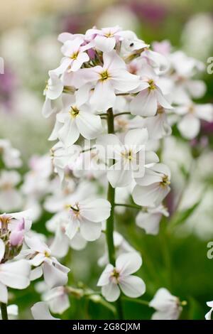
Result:
M63 125L58 137L66 146L74 144L80 134L86 139L94 139L102 132L101 117L92 113L89 104L82 104L73 95L65 95L62 101L58 121Z

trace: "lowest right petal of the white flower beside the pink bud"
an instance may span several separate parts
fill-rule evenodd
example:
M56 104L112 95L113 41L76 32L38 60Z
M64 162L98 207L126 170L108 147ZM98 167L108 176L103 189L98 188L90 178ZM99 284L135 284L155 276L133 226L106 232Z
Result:
M57 269L56 266L47 263L44 263L42 267L45 283L50 289L53 289L56 286L64 286L65 284L67 284L67 273L61 271L60 269Z

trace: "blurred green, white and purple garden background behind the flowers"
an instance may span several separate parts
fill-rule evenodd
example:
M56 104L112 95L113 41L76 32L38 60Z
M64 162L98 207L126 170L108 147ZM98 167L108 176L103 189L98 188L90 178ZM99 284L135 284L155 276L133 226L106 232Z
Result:
M63 31L84 33L94 25L131 29L147 43L169 40L174 48L184 50L205 64L207 58L213 56L212 0L1 1L0 56L4 58L5 73L0 75L0 137L10 139L13 146L21 150L23 171L28 169L28 159L33 154L47 153L52 144L48 136L53 124L43 119L41 109L48 70L56 68L61 58L57 36ZM213 75L204 72L203 79L207 83L207 94L202 102L213 102ZM202 193L197 189L203 189L204 182L213 184L212 124L202 131L204 138L207 137L208 148L197 163L186 195L192 202L196 191L198 197ZM180 162L181 166L184 163L187 166L192 153L188 144L173 137L166 147L164 158L175 171L173 182L184 182L175 166ZM141 251L144 259L141 276L148 286L144 298L150 300L158 288L167 287L188 302L182 318L203 319L207 312L205 303L213 299L213 259L207 259L206 255L207 242L213 240L212 188L202 194L200 208L187 221L187 227L176 231L168 240L137 230L131 212L125 217L118 215L118 222L122 222L121 232ZM40 225L44 225L44 221L45 217ZM170 264L163 250L165 242L169 244ZM89 245L89 250L73 256L75 277L89 286L95 286L101 271L96 266L96 249L94 243ZM98 255L102 252L100 247ZM13 297L23 318L30 317L28 307L39 300L34 287ZM95 303L75 299L71 302L72 307L64 318L111 318L110 311ZM150 318L152 312L146 306L126 302L125 313L129 318L145 319Z

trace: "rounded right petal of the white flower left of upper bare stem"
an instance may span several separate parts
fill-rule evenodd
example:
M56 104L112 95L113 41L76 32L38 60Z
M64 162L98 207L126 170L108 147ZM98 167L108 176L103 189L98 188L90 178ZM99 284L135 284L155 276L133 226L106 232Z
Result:
M89 112L81 110L76 117L76 124L80 134L86 139L95 139L102 132L101 117Z

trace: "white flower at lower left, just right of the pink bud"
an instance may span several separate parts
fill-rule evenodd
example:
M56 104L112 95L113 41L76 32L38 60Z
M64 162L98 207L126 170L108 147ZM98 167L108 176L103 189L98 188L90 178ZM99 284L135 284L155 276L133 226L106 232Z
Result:
M36 267L31 273L31 279L37 279L43 273L45 283L50 289L67 284L67 273L70 269L62 266L51 255L48 246L37 237L26 237L25 241L30 249L23 251L23 255Z

